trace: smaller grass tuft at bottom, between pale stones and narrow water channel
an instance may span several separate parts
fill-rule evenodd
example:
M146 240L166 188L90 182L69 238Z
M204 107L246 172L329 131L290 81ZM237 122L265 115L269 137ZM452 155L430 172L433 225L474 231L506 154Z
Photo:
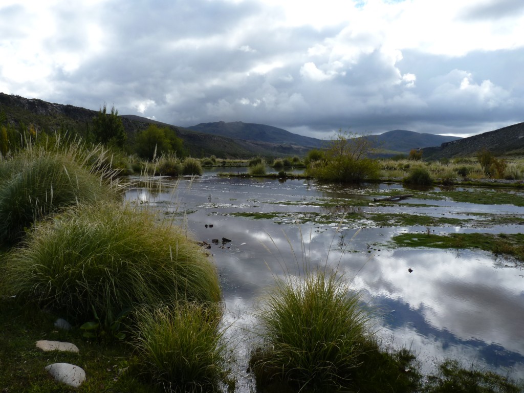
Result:
M162 391L219 391L228 374L221 311L193 302L139 308L133 368Z

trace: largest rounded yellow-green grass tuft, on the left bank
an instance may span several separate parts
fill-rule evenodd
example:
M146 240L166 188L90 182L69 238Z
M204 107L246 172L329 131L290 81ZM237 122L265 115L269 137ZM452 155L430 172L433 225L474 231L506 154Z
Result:
M113 203L40 223L5 258L4 287L77 322L111 323L136 304L221 298L214 267L178 227Z

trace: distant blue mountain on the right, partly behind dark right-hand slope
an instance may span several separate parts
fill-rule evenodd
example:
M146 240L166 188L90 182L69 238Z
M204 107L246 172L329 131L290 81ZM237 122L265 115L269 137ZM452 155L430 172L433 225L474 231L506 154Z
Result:
M372 138L377 145L377 149L381 151L379 155L384 156L408 154L411 149L438 146L445 142L461 139L455 136L421 134L405 129L394 129L366 138Z

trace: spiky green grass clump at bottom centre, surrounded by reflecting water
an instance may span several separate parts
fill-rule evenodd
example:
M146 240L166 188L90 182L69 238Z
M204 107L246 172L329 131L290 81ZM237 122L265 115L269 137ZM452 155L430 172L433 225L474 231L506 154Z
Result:
M256 316L263 344L252 352L250 366L258 384L351 391L366 386L362 378L356 381L359 376L378 375L372 369L383 353L369 331L370 312L335 272L278 279ZM392 357L389 365L391 383L401 376Z

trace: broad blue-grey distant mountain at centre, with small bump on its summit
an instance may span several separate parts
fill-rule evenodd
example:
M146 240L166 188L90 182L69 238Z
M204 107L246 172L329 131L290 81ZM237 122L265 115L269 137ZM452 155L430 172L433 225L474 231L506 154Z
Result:
M193 131L205 134L222 135L233 139L246 139L258 142L268 142L283 145L296 145L309 148L319 148L325 143L321 139L310 138L290 133L282 128L267 126L264 124L243 122L215 122L200 123L188 127Z

